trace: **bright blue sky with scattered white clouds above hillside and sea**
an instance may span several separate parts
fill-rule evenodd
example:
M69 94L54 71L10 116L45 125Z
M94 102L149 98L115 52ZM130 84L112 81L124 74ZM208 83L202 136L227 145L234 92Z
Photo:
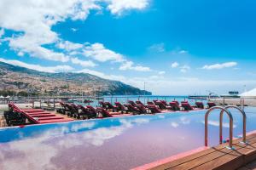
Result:
M1 0L0 61L159 95L256 87L256 1Z

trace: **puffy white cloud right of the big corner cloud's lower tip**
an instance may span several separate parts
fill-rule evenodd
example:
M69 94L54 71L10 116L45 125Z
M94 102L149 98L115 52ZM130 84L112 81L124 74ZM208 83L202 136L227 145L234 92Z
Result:
M108 60L116 62L124 61L124 56L122 54L115 53L112 50L105 48L102 43L94 43L85 46L84 55L100 62L106 62Z

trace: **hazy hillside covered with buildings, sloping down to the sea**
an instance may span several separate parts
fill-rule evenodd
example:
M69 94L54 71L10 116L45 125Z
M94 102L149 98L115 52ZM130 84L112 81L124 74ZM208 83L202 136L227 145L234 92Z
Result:
M0 94L151 95L123 82L87 73L34 71L0 62Z

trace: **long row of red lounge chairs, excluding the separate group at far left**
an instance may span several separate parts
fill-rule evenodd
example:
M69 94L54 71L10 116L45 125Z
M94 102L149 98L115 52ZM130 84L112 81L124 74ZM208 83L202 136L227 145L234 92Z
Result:
M77 119L90 119L205 109L202 102L195 102L195 106L191 106L188 101L183 101L181 104L177 101L172 101L167 104L165 100L153 100L152 102L148 101L148 105L144 105L139 100L136 102L130 100L128 104L125 105L119 102L115 102L114 104L115 105L112 105L110 102L100 101L100 107L94 108L90 105L83 106L61 102L61 108L58 109L57 112ZM210 102L207 105L208 107L215 106L214 103Z

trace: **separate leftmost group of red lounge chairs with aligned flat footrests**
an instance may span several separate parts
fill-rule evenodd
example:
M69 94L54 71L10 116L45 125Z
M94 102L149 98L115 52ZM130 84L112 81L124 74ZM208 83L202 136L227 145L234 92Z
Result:
M5 111L3 116L9 126L73 121L42 109L20 109L12 103L9 103L9 111Z

